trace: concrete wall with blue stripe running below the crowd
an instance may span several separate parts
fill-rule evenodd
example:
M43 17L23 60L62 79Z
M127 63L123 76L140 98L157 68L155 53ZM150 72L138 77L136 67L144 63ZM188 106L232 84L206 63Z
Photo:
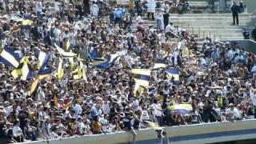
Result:
M203 144L214 142L230 142L256 138L256 120L207 123L190 126L166 127L168 141L171 144ZM114 144L128 143L132 134L122 132L118 134L100 134L65 139L55 139L40 142L26 142L26 144ZM136 143L158 144L155 130L138 130Z

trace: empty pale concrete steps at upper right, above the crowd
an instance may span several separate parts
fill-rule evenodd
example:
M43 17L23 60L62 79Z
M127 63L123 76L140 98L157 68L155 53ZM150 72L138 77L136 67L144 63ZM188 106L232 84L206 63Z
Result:
M231 14L170 14L170 22L186 29L198 38L206 36L217 40L243 39L242 30L248 26L254 28L252 14L240 14L239 26L233 26ZM155 25L156 22L144 20L145 25Z

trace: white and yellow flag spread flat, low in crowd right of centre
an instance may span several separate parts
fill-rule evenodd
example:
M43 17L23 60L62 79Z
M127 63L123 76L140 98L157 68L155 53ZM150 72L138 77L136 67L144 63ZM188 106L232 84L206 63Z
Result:
M178 104L174 106L169 106L168 109L178 114L190 114L190 112L193 110L190 104Z

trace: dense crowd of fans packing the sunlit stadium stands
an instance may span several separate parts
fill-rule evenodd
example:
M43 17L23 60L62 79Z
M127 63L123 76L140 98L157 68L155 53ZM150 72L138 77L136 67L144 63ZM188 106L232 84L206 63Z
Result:
M72 2L54 2L53 7L43 1L1 2L2 48L11 47L21 58L26 54L34 76L14 78L14 68L0 63L0 143L138 130L146 128L145 121L179 126L255 118L254 54L235 42L220 44L210 38L198 49L194 37L169 20L146 26L142 17L134 18L121 6L99 0L89 8L88 1ZM136 2L133 6L141 8ZM149 16L161 6L156 7L147 11ZM30 18L33 24L25 29L14 17ZM68 59L63 78L55 76L61 55L54 44L64 47L67 40L77 54L74 67L80 55L86 78L74 79ZM50 54L52 74L28 94L38 76L39 51ZM113 66L98 69L90 64L95 51L98 58L119 58ZM130 70L152 69L166 54L167 67L179 70L179 84L164 69L152 70L150 86L134 93ZM193 107L190 114L168 109L184 103Z

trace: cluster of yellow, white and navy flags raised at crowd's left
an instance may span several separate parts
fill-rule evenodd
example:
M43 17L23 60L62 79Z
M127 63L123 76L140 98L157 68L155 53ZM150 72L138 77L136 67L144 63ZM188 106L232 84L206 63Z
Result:
M62 50L57 45L56 49L58 50L58 53L61 55L57 70L57 78L58 80L61 80L64 75L64 69L63 69L63 58L67 58L70 61L70 66L73 66L74 70L74 56L76 54L72 53L70 50L70 42L69 40L66 42L66 49L70 50L70 52L67 52L65 50ZM43 51L39 51L38 54L38 75L36 78L34 78L34 71L32 67L30 66L30 60L26 56L26 54L20 58L19 54L15 53L14 49L5 46L5 48L0 50L0 63L5 64L6 66L11 66L14 68L14 70L11 72L14 78L21 77L22 80L26 81L28 78L34 78L34 81L30 85L30 90L28 90L28 94L31 95L34 90L38 87L38 82L43 78L51 78L52 70L50 66L47 65L47 62L49 61L50 54L46 54ZM110 58L109 61L112 61ZM84 78L86 79L86 71L84 70L84 65L82 62L82 58L78 57L78 66L73 71L73 78L79 79Z

